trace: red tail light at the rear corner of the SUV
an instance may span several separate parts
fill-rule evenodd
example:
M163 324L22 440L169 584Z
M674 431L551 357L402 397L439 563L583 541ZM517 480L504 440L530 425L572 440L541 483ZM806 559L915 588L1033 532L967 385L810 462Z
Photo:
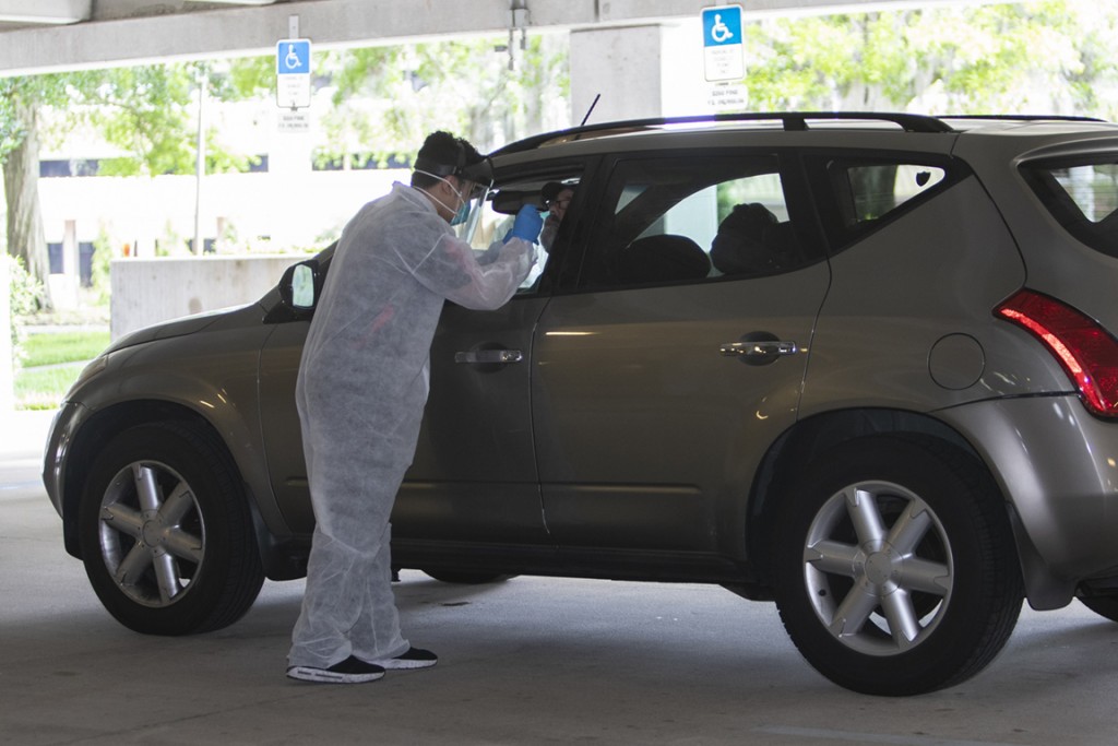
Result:
M994 313L1025 329L1060 361L1093 414L1118 417L1118 340L1090 317L1022 290Z

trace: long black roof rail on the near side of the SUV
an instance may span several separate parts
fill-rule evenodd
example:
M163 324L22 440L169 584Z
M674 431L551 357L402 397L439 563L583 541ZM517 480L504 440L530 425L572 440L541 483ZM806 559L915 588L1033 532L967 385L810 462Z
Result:
M808 130L808 120L847 120L847 121L880 121L899 124L907 132L955 132L942 120L925 114L906 114L896 112L775 112L775 113L740 113L740 114L701 114L697 116L673 116L652 117L639 120L620 120L616 122L603 122L600 124L589 124L559 130L556 132L544 132L542 134L524 138L493 151L492 155L505 153L519 153L527 150L534 150L540 145L552 142L571 142L594 136L605 136L609 134L623 134L627 132L639 132L642 130L653 130L673 124L704 124L710 122L780 122L787 131Z

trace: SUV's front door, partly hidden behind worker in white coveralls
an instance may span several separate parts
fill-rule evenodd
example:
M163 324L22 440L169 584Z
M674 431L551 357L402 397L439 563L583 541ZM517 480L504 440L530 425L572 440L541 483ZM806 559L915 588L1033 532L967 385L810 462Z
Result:
M505 177L474 237L482 256L548 180L577 183L580 164ZM495 311L444 308L430 351L430 395L415 459L392 512L394 560L402 566L485 565L510 551L521 563L553 555L543 525L531 433L531 349L558 252L540 252L517 295ZM277 324L260 353L260 422L273 491L290 528L313 528L294 386L307 321ZM376 386L377 381L368 381ZM533 559L534 558L534 559ZM491 564L491 563L490 563ZM513 563L515 564L515 561Z

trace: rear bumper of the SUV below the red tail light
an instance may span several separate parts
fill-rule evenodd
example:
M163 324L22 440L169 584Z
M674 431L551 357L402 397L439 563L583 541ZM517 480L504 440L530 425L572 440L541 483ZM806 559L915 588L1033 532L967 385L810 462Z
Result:
M1084 579L1118 575L1118 422L1073 395L947 409L1010 502L1029 602L1058 608Z

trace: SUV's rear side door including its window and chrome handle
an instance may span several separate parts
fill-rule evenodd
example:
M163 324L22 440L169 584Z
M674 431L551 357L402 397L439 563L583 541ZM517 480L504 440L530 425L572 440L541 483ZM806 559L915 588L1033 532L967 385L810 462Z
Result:
M608 172L577 287L536 338L544 514L568 555L623 568L639 553L644 575L663 553L655 574L685 577L682 554L741 554L830 273L794 155L663 153Z

